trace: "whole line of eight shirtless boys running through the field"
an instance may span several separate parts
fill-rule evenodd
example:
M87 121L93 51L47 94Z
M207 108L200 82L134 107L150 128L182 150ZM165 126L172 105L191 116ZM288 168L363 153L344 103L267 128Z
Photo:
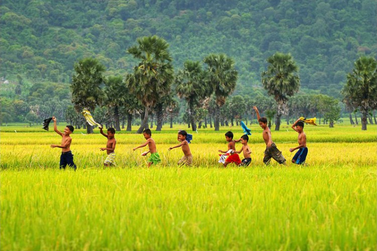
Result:
M264 157L263 162L265 164L268 164L273 158L280 164L286 164L286 158L281 154L281 151L279 151L275 145L275 143L272 141L271 131L267 126L267 119L265 117L260 117L258 109L254 106L253 109L256 112L257 119L259 122L259 126L263 129L262 137L266 144L266 149L264 151ZM60 132L57 129L56 126L56 118L52 117L52 120L54 121L54 131L62 136L61 145L51 145L52 148L59 147L62 148L62 153L60 156L60 169L65 169L66 166L71 166L74 170L76 170L76 165L73 162L73 154L70 150L70 144L72 142L72 138L69 136L74 128L70 125L67 125L64 128L64 132ZM292 128L299 133L298 136L298 142L299 146L290 148L290 151L293 152L297 149L297 153L292 159L293 163L296 164L303 164L305 163L306 156L308 154L308 148L306 147L306 134L304 132L304 122L301 119L298 119L293 125ZM100 148L102 151L107 151L107 157L104 161L105 166L115 165L115 146L116 146L116 139L115 139L115 129L114 128L108 128L107 133L103 132L103 128L100 126L100 133L108 138L106 147ZM148 167L151 164L157 164L161 162L160 156L157 152L156 143L152 139L151 135L152 132L150 129L145 129L143 131L144 138L146 139L145 143L133 148L133 150L136 150L141 147L145 147L148 145L149 150L146 152L143 152L142 155L146 156L148 153L150 153L149 158L147 159L147 165ZM186 164L191 165L193 163L193 155L190 150L189 141L186 139L187 132L184 130L178 131L178 141L179 144L170 147L168 150L171 150L173 148L181 147L184 156L179 159L178 164ZM228 150L223 151L219 150L219 152L223 153L220 154L220 160L219 162L223 164L223 166L227 166L230 163L235 163L239 166L247 166L251 162L251 149L247 145L247 142L249 140L249 137L245 134L242 135L240 139L233 139L233 133L227 132L225 133L225 139L228 142ZM239 151L236 150L235 143L240 142L242 144L242 147ZM244 158L241 160L239 155L241 152L243 152Z

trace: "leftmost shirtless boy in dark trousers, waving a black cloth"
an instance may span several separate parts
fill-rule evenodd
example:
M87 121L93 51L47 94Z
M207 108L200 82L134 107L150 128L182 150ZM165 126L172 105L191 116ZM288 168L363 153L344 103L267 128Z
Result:
M51 148L61 148L59 169L65 169L65 167L68 165L76 171L76 165L73 162L73 154L70 149L72 138L69 136L69 134L73 132L74 128L71 125L67 125L64 128L63 133L61 133L56 126L56 118L52 117L52 120L54 121L54 131L62 137L61 145L51 145Z

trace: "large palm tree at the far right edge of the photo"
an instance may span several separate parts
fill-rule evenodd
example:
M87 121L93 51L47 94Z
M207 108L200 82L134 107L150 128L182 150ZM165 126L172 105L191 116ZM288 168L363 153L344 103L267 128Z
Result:
M377 106L377 61L373 57L356 60L342 94L350 106L360 109L361 130L366 130L368 114Z

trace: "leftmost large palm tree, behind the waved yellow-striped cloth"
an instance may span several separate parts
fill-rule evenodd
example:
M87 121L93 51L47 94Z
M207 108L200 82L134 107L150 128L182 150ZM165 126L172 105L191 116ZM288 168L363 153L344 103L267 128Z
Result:
M74 70L76 73L70 86L74 108L76 112L81 112L83 108L93 112L105 100L101 89L105 80L105 66L95 58L84 58L74 64ZM93 128L87 122L86 132L93 133Z

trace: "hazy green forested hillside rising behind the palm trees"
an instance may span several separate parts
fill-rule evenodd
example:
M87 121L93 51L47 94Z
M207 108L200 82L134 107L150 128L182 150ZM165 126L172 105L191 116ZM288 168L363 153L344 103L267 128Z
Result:
M259 86L266 58L281 51L297 61L303 88L338 96L357 57L377 54L376 8L374 0L5 0L0 72L69 82L73 63L88 56L109 74L127 72L126 49L156 34L175 68L209 53L233 57L237 92Z

